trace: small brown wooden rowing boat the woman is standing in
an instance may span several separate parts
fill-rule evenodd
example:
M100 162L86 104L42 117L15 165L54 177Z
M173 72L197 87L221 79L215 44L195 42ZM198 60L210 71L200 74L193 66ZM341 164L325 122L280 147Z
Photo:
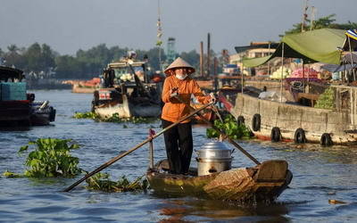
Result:
M286 161L264 161L253 168L229 169L197 176L168 173L167 161L148 169L146 178L156 193L192 195L214 200L271 202L278 198L293 178Z

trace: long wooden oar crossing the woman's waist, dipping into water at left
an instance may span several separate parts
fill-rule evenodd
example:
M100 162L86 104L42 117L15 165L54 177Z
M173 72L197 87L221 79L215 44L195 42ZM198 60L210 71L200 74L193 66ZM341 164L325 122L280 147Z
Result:
M102 164L102 166L98 167L97 169L93 170L90 173L87 173L86 176L84 176L83 178L80 178L77 182L75 182L74 184L72 184L71 186L67 187L66 189L63 190L63 192L69 192L71 191L71 189L73 189L73 187L78 186L81 182L83 182L84 180L86 180L87 178L92 177L93 175L95 175L95 173L98 173L99 171L109 167L110 165L112 165L112 163L119 161L121 158L123 158L124 156L128 155L129 153L137 150L138 148L140 148L141 146L145 145L146 143L152 141L155 137L162 135L162 133L166 132L167 130L169 130L170 128L173 128L177 125L179 125L179 122L187 120L188 118L192 117L193 115L195 115L196 113L203 111L203 109L207 108L208 106L211 106L214 103L207 103L205 104L203 107L192 111L191 113L187 114L187 116L182 117L181 119L179 119L178 121L172 123L170 126L168 126L167 128L162 129L162 131L160 131L159 133L155 134L154 136L151 136L149 138L147 138L146 140L144 140L142 143L134 146L133 148L129 149L127 152L125 153L120 153L119 155L117 155L116 157L112 158L112 160L105 162L104 164Z

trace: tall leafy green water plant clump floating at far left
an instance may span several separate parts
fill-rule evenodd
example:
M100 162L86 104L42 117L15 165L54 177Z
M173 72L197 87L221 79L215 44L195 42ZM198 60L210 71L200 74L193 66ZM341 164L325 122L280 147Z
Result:
M79 145L71 144L71 139L38 138L29 142L35 148L29 153L25 165L29 167L24 176L29 178L73 177L79 174L79 159L70 151ZM21 146L19 153L28 151L29 145Z

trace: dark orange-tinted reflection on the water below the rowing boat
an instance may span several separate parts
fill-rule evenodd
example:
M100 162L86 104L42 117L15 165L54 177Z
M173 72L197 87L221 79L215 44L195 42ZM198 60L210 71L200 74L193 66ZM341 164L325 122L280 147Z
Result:
M163 195L156 197L162 198L159 213L166 221L212 221L229 220L235 221L256 221L259 220L269 222L286 222L284 216L288 213L286 204L283 203L253 203L253 204L237 204L237 202L216 201L216 200L200 200L200 199L169 199ZM255 216L255 217L253 217Z

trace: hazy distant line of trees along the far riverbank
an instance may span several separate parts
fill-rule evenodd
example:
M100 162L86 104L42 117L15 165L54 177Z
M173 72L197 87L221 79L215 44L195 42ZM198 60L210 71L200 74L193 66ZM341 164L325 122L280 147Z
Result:
M54 68L54 78L95 78L100 75L102 70L109 62L118 61L127 55L128 47L118 45L108 48L105 44L96 45L87 51L79 49L76 55L60 55L51 49L49 45L39 45L35 43L26 47L17 45L7 46L8 52L0 52L6 61L5 65L29 71L47 71ZM159 59L159 50L161 59ZM134 50L137 52L137 59L143 60L147 55L150 61L151 71L160 70L160 60L165 61L166 55L162 47L154 46L149 50ZM182 58L190 62L195 67L199 66L199 55L195 51L180 54ZM212 57L214 52L212 52ZM213 64L213 62L212 62Z

